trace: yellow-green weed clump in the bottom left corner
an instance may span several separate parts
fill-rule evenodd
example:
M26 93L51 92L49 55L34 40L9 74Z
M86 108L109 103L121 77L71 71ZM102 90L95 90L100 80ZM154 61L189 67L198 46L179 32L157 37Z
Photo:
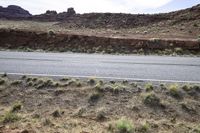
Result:
M20 117L17 114L9 111L5 113L0 121L3 123L12 123L18 120L20 120Z

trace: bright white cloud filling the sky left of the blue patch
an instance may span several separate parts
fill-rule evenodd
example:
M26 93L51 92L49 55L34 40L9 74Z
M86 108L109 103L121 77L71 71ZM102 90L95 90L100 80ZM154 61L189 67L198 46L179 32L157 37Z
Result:
M158 8L172 0L0 0L0 5L20 5L33 14L46 10L66 11L74 7L79 13L87 12L123 12L137 13L144 9Z

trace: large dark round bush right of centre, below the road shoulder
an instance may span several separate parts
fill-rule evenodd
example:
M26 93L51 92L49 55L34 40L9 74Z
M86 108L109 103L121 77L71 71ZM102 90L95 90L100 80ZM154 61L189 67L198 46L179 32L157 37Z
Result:
M150 106L160 106L160 99L154 93L148 93L144 95L144 104Z

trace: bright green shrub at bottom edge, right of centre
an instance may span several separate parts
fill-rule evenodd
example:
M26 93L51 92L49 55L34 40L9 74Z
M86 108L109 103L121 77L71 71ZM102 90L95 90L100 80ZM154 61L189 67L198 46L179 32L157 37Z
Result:
M134 132L134 127L131 121L127 119L120 119L116 122L116 128L119 133L132 133Z

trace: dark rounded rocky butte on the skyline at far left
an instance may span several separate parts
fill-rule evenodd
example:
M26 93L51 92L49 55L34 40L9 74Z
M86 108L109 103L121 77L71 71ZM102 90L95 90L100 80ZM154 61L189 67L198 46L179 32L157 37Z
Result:
M32 15L23 8L15 5L10 5L7 8L0 7L0 18L13 19L13 18L28 18Z

